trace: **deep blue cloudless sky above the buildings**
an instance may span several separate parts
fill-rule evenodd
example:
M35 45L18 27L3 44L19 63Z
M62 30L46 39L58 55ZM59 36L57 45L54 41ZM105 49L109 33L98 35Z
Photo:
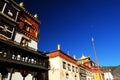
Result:
M20 0L16 0L20 2ZM38 14L39 50L61 50L95 61L94 37L101 66L120 65L120 0L21 0L31 14Z

